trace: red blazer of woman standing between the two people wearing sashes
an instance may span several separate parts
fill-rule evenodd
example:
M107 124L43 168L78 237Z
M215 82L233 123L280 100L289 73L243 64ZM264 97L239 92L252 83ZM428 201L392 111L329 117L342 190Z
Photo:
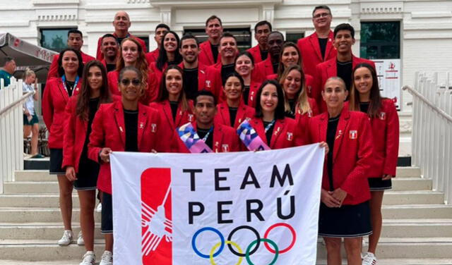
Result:
M227 102L224 101L217 105L215 124L222 124L237 129L240 123L242 123L242 121L244 121L246 118L253 118L254 113L255 113L254 108L252 108L251 106L246 106L243 101L240 101L239 108L237 109L237 115L235 116L234 124L231 125L231 119L229 116L229 107L227 106Z

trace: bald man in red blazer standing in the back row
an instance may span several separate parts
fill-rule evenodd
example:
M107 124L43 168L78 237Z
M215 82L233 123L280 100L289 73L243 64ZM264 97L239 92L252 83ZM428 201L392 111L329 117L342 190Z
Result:
M148 49L146 49L146 44L144 43L143 39L140 39L138 37L135 37L129 33L129 27L131 25L129 14L125 11L119 11L114 15L113 20L113 27L114 32L113 35L118 39L119 44L121 44L122 40L128 37L135 38L138 42L140 42L141 46L143 47L143 51L146 52ZM104 54L102 54L102 50L100 49L102 46L102 37L99 38L97 41L97 54L96 58L99 61L102 61L104 58Z

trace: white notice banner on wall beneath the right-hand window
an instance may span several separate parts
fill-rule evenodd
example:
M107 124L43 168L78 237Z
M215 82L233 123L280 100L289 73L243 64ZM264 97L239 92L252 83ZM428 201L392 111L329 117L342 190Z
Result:
M376 76L379 78L380 93L382 97L393 99L396 108L400 110L400 59L374 59Z

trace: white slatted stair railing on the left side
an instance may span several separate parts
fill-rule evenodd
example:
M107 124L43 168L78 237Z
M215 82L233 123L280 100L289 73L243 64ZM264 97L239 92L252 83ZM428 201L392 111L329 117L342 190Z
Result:
M22 80L11 78L4 87L0 79L0 194L14 171L23 170L23 101L35 92L22 92Z

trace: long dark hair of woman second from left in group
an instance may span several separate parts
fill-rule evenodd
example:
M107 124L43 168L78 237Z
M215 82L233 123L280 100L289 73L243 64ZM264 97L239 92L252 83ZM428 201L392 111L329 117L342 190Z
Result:
M82 121L88 121L88 111L90 110L91 87L88 82L88 72L90 68L97 66L102 73L102 86L100 87L99 104L112 102L110 90L107 82L107 70L100 61L89 61L83 68L83 82L80 94L78 94L76 105L76 116Z

